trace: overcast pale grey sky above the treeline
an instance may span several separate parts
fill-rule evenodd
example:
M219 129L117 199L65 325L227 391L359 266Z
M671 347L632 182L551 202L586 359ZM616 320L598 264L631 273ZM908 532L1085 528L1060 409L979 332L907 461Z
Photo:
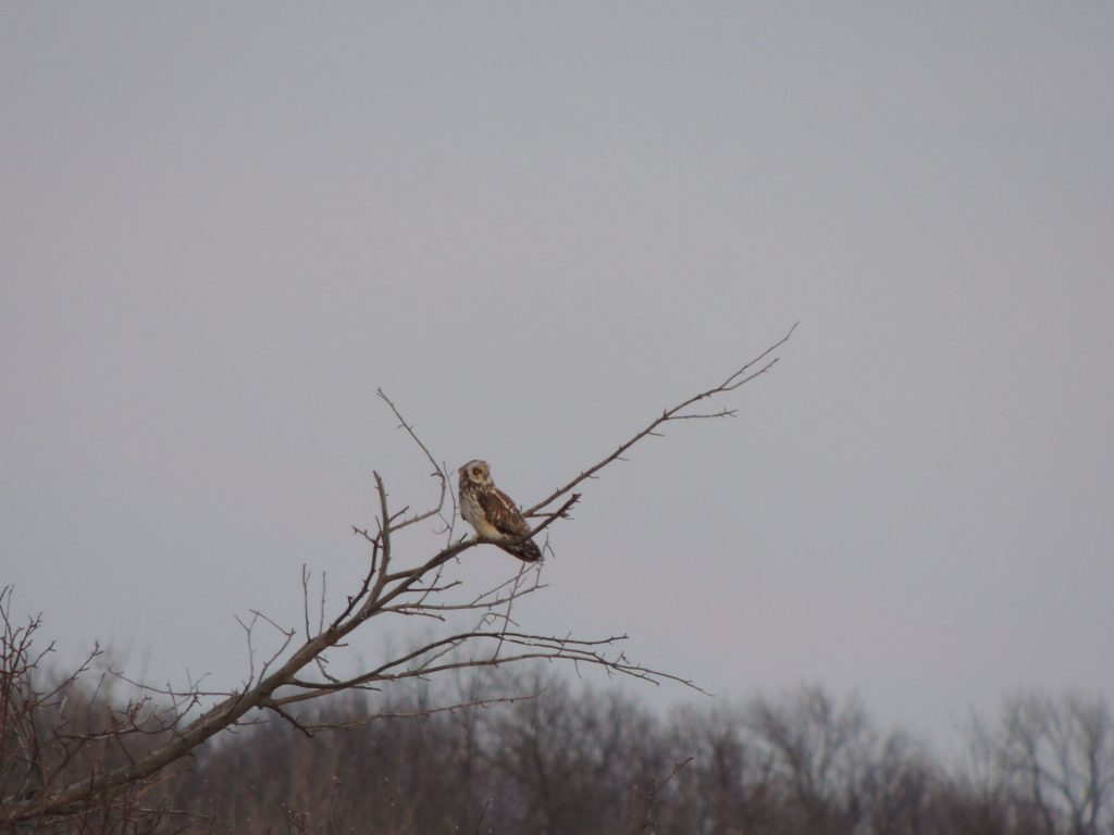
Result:
M377 386L529 504L800 320L588 485L524 626L934 734L1111 697L1112 43L1105 2L7 3L0 584L234 684L234 612L362 568L372 468L431 495Z

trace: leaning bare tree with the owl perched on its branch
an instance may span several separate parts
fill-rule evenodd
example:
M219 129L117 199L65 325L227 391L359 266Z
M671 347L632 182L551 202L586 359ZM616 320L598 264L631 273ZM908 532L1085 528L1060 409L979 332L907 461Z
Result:
M704 400L720 399L766 373L778 362L772 353L792 333L791 328L719 385L665 410L614 452L525 511L528 518L537 520L528 536L536 537L558 520L567 519L580 498L574 491L582 482L620 460L644 438L658 435L666 423L733 415L734 410L725 407L704 412L694 412L692 407ZM625 636L590 639L519 629L514 607L524 597L544 588L539 579L540 563L516 564L515 573L506 581L475 589L458 558L486 540L457 534L450 469L438 463L394 403L382 392L379 394L431 468L437 498L417 511L409 504L392 505L382 478L373 473L378 519L370 529L353 529L369 550L362 581L350 590L339 610L326 613L323 583L319 601L316 592L311 595L309 576L303 572L304 611L297 629L282 626L262 611L252 611L251 617L241 620L248 649L248 669L238 687L206 689L199 682L187 681L182 687L156 688L113 672L121 681L137 687L140 697L123 708L106 708L107 713L98 721L85 726L68 720L60 725L47 720L49 711L61 715L66 695L84 686L92 658L63 677L61 686L46 684L43 670L39 669L41 654L33 654L30 640L38 621L17 626L9 608L10 591L6 591L4 606L0 609L6 629L3 658L0 659L4 676L0 682L0 746L3 746L0 823L11 828L27 828L36 822L84 815L95 804L99 804L106 815L125 806L133 809L128 804L168 766L221 731L257 721L261 714L270 711L299 731L312 735L322 726L314 723L316 714L307 707L339 694L379 690L447 672L490 669L535 659L594 665L609 674L655 682L671 679L691 684L632 661L616 646ZM439 527L443 543L433 553L422 554L419 552L421 546L414 544L417 538L411 534L420 524ZM417 618L440 627L441 631L412 649L391 654L380 664L368 667L360 667L353 654L344 652L348 639L358 629L370 621L392 617ZM277 645L266 652L258 648L264 632L270 632ZM530 695L491 694L472 700L426 704L410 713L429 716ZM343 721L330 719L326 726L352 726L392 715L398 714L387 709ZM97 753L96 757L88 756L92 752ZM148 809L148 813L170 814L167 809Z

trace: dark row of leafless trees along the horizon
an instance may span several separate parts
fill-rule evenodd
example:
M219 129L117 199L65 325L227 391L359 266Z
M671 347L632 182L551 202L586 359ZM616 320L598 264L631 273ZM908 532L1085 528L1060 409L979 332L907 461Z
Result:
M498 678L499 680L495 680ZM1101 699L1023 694L971 721L947 760L881 730L854 698L802 687L657 715L548 666L462 671L432 694L352 692L310 736L270 721L214 738L128 798L11 832L672 833L1100 835L1114 833L1114 724ZM67 685L75 688L75 685ZM488 690L537 694L431 713ZM55 721L87 737L104 694L61 694ZM383 718L367 720L374 714ZM387 718L387 717L395 718ZM87 724L91 726L87 727ZM50 729L41 729L49 736ZM118 737L113 737L118 739ZM115 745L100 757L126 760ZM10 785L14 760L0 768Z

